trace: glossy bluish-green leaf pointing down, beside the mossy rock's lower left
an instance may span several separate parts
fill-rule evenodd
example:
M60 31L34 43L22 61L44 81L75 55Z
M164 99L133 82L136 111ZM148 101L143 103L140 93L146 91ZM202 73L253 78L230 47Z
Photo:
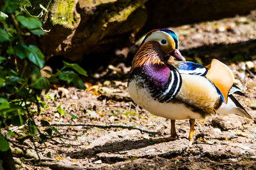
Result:
M35 45L29 45L28 46L28 59L33 62L36 66L40 67L40 69L42 69L42 67L44 67L44 54L41 52L41 50L39 48L37 48Z

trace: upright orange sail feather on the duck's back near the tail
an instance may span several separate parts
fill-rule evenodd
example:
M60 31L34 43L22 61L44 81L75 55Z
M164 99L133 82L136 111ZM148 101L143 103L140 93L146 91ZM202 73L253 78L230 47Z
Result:
M216 59L213 59L206 68L209 70L205 76L218 87L227 104L228 92L234 83L232 71L228 66Z

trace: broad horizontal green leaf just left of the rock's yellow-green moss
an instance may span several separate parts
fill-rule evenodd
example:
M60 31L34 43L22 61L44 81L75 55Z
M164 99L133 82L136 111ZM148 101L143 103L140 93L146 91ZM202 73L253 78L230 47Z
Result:
M24 17L23 15L19 15L17 20L20 22L20 24L28 29L39 29L42 27L42 23L38 18Z

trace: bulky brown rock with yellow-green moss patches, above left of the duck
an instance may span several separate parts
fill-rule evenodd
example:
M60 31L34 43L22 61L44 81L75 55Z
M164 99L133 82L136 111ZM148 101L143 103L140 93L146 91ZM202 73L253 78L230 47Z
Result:
M131 34L140 30L147 20L143 8L146 1L52 1L44 20L44 29L51 31L40 37L42 51L47 59L61 55L81 61L84 55L90 55L84 62L88 67L92 66L89 60L104 63L99 60L99 54L105 55L102 59L108 61L106 52L113 55L115 49L134 43Z

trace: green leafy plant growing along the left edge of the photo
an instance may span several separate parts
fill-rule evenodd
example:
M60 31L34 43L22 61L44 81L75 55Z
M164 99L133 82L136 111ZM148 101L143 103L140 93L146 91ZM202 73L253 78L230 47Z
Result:
M77 64L64 62L63 68L56 73L43 69L44 53L36 45L28 44L27 40L46 34L38 17L42 17L48 7L39 4L42 11L33 16L26 9L29 6L29 0L4 0L0 11L0 152L10 150L6 139L15 137L21 143L29 139L38 154L37 143L51 139L53 131L60 135L46 122L49 128L41 132L35 122L35 115L44 109L41 94L43 91L47 94L52 83L66 81L85 89L78 74L87 74ZM42 71L49 76L42 76ZM13 132L11 126L19 126L22 132Z

